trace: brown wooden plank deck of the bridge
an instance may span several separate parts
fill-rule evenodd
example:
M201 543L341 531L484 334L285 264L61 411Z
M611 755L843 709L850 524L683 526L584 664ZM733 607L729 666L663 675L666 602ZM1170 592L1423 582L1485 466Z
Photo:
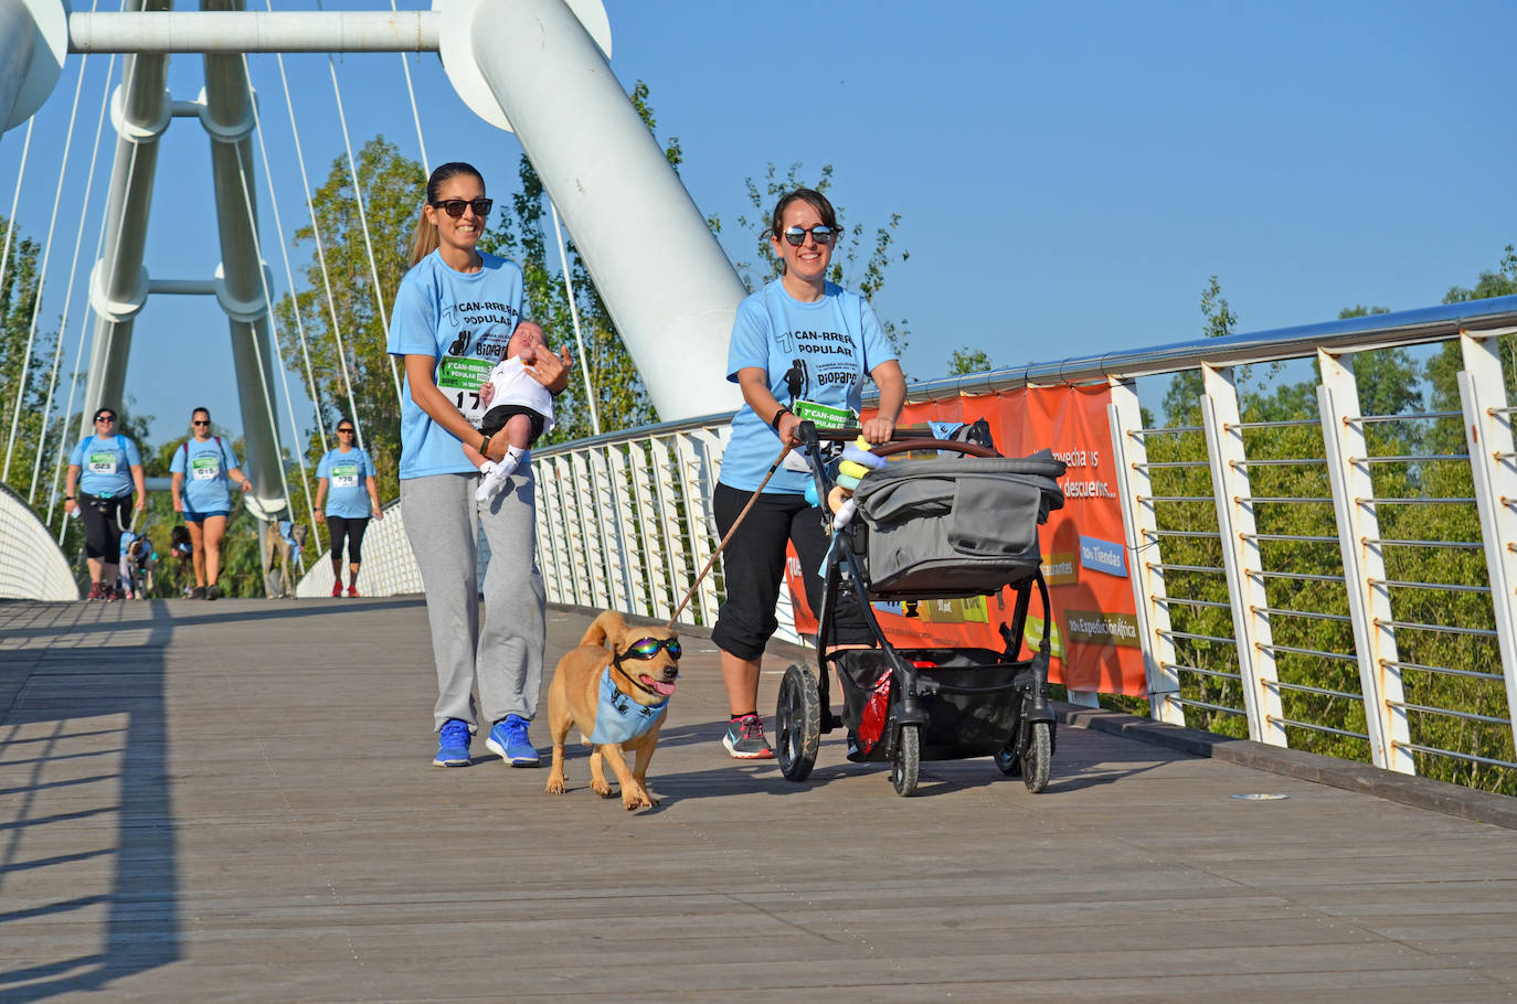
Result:
M1517 990L1517 831L1074 728L1044 795L978 760L901 799L833 737L796 786L725 757L686 651L630 814L583 748L558 798L429 766L416 599L0 604L0 1001Z

